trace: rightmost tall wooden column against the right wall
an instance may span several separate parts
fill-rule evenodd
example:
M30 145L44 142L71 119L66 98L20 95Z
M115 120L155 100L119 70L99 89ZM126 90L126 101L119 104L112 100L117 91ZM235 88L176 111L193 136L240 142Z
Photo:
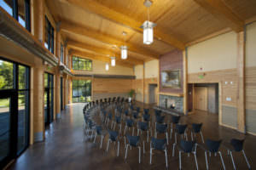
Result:
M245 37L244 31L237 33L237 130L246 133L245 112Z

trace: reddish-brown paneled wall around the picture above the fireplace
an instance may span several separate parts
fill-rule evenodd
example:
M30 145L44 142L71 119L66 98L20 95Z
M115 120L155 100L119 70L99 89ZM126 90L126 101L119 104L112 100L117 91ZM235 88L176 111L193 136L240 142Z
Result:
M168 70L181 70L181 88L162 88L160 84L161 93L176 93L183 94L183 51L173 50L169 54L162 55L160 57L160 82L161 82L161 71Z

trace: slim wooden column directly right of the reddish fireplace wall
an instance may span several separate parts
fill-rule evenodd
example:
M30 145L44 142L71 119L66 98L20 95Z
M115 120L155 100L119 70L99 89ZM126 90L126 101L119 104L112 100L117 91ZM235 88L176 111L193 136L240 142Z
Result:
M183 50L183 112L188 114L188 55L187 49Z

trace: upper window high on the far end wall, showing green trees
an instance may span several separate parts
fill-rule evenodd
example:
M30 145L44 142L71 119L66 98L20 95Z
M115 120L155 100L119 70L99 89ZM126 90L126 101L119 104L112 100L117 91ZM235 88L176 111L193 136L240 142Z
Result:
M73 63L73 70L91 71L92 62L90 59L82 59L82 58L73 56L72 63Z

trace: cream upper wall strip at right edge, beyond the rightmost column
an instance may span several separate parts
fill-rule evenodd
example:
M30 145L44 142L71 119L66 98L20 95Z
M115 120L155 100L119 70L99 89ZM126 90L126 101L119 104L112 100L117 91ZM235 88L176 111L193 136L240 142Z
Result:
M246 66L256 66L256 22L247 26Z

